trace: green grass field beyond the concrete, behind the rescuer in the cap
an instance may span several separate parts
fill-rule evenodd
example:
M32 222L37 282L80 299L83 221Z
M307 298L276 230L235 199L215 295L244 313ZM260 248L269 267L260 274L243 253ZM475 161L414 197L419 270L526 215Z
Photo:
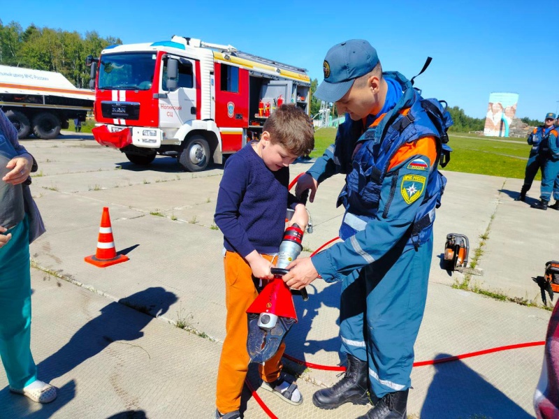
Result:
M320 128L314 133L312 157L322 155L334 142L336 128ZM451 161L444 170L479 175L524 178L530 145L523 138L483 137L467 133L451 133ZM505 140L505 141L501 141ZM538 172L536 179L541 179Z

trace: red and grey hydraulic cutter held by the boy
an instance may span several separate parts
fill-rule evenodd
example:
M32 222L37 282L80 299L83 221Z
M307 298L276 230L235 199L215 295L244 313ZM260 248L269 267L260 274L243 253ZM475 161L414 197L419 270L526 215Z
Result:
M272 268L274 279L247 309L247 351L253 362L263 363L272 358L293 323L296 323L297 314L291 293L300 294L303 300L308 300L305 288L290 291L282 279L289 272L287 265L303 249L302 240L303 230L297 224L286 228L282 244L279 245L276 267Z

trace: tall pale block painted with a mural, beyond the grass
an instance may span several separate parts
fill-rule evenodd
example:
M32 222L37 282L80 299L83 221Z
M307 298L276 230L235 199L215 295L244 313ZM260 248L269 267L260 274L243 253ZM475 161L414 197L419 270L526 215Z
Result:
M518 94L492 93L489 95L484 135L486 137L508 137L509 126L516 115Z

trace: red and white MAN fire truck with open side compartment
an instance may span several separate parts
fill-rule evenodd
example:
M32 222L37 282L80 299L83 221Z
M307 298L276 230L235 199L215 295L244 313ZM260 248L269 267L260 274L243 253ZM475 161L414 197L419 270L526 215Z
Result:
M175 156L183 170L204 170L259 138L282 103L307 115L310 108L304 68L231 45L173 36L111 45L87 64L95 89L94 137L137 165L159 154Z

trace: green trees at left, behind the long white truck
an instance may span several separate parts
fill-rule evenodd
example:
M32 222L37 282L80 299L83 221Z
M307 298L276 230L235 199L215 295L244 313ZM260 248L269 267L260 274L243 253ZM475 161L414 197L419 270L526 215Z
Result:
M23 29L17 22L0 22L0 64L4 66L56 71L75 87L89 87L88 55L99 57L108 45L122 44L119 38L101 38L96 31L85 36L78 32L38 28L30 24Z

